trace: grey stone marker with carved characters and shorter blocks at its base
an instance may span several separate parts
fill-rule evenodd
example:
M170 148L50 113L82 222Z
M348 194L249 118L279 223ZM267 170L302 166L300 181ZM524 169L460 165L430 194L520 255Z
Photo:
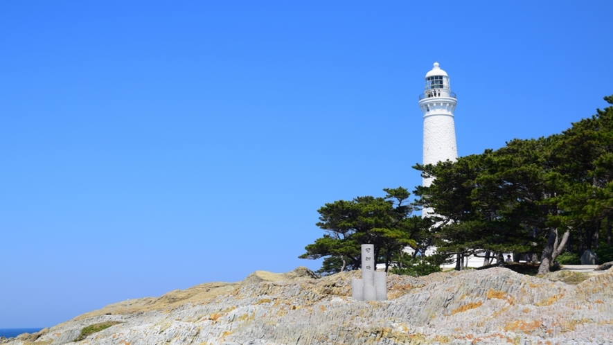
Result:
M362 245L362 279L351 279L351 297L357 301L387 300L387 277L375 269L375 246Z

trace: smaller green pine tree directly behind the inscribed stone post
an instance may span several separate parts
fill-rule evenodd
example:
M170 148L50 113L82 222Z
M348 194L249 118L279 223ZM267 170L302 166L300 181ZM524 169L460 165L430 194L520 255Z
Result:
M328 275L359 269L362 244L375 245L377 263L384 263L386 270L397 264L393 258L405 247L425 252L433 242L428 233L432 220L411 215L414 207L406 188L385 188L384 192L384 197L337 200L317 210L317 226L326 233L306 246L299 258L323 258L317 273Z

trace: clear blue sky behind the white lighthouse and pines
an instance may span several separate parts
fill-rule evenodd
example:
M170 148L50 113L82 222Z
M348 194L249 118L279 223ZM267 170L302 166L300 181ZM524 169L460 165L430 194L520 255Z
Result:
M611 1L0 2L0 328L287 272L317 209L420 184L424 76L460 155L613 94Z

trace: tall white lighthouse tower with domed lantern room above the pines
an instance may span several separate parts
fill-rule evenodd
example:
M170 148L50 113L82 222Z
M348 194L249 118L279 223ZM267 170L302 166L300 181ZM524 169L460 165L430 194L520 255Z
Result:
M426 73L425 82L424 93L419 96L424 118L423 164L455 161L458 158L454 125L456 94L451 91L447 72L438 67L438 62ZM423 186L430 184L432 178L423 179Z

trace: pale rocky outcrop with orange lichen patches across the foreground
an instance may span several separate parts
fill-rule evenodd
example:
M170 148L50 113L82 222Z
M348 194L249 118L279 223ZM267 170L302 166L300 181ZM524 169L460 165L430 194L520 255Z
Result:
M578 285L505 268L390 275L389 301L350 297L359 272L254 272L89 312L7 344L613 344L613 272ZM112 322L109 322L112 321Z

